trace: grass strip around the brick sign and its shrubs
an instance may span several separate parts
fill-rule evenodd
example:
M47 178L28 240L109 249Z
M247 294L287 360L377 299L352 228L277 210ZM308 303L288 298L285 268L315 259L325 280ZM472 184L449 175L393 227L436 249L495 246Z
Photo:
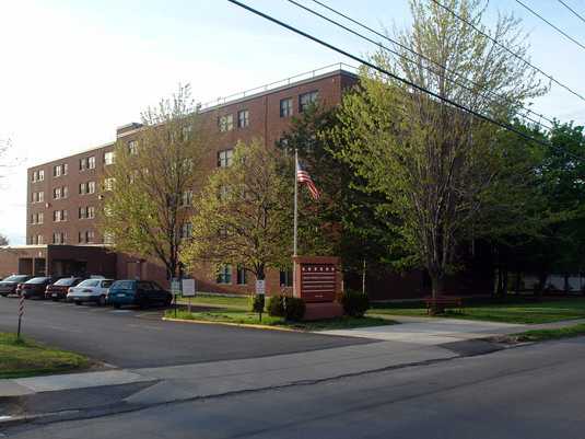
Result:
M167 310L166 316L173 319L175 316L174 310ZM262 320L258 319L257 313L251 313L242 310L218 310L192 312L177 311L177 319L185 320L202 320L206 322L222 322L235 324L262 324L267 326L280 326L301 331L326 331L326 330L343 330L351 327L366 327L394 324L391 320L385 317L350 317L343 316L339 319L329 319L315 322L288 322L283 317L272 317L266 313L262 314Z

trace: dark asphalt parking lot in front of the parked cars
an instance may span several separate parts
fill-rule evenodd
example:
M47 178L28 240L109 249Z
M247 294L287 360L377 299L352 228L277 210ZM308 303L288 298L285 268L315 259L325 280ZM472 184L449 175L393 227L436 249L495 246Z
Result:
M16 298L0 298L0 332L16 331ZM23 332L121 368L254 358L365 339L161 321L161 310L114 310L27 300Z

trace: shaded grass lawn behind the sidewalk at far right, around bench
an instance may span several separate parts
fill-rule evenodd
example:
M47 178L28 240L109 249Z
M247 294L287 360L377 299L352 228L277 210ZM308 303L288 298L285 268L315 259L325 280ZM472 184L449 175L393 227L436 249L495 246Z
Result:
M422 302L374 303L368 315L426 316L426 309ZM441 316L524 324L585 319L585 298L542 302L512 299L508 303L471 303L466 305L464 312L447 312Z

